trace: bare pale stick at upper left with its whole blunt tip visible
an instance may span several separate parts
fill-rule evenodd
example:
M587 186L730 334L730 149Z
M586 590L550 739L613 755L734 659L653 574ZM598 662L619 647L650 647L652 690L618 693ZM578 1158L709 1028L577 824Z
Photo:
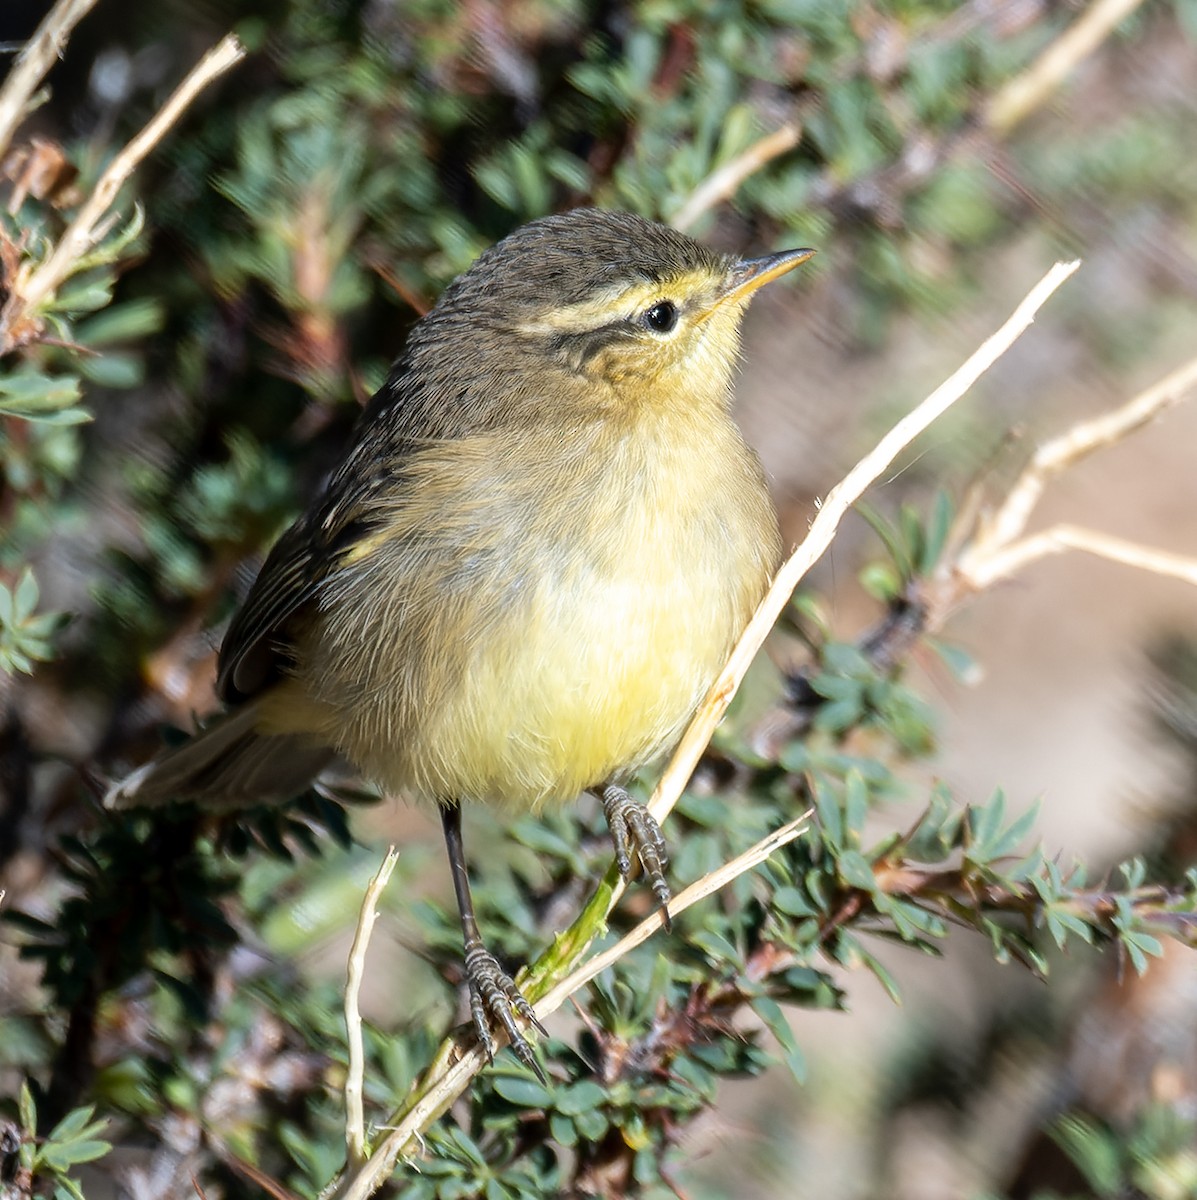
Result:
M83 202L74 220L67 226L49 259L20 288L24 308L34 308L58 289L71 274L71 265L91 248L96 227L112 206L121 185L137 169L142 160L162 140L167 131L182 115L188 104L218 76L245 58L245 47L233 34L222 38L192 68L170 98L150 122L121 150L100 176L91 196ZM10 319L11 328L11 319Z

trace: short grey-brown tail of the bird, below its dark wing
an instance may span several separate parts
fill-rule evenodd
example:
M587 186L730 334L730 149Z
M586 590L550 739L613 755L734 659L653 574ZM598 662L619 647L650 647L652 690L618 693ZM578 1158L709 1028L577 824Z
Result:
M236 809L299 796L336 757L302 733L261 733L248 701L174 750L152 758L104 797L112 809L194 802Z

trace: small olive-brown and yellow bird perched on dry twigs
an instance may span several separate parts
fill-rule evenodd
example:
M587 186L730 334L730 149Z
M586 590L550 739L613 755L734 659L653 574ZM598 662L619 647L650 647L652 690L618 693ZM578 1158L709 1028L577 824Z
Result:
M283 803L335 758L440 808L470 1010L540 1074L474 916L461 805L602 800L662 905L628 778L680 738L777 565L730 416L740 320L812 250L736 259L627 212L516 229L413 328L221 647L227 707L108 803ZM668 908L666 908L668 913Z

